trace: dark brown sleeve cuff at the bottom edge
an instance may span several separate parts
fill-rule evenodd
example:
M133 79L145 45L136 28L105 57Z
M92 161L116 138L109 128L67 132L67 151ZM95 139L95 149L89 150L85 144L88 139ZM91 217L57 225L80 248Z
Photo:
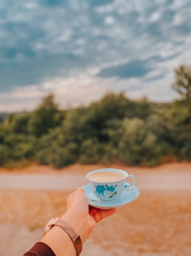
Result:
M38 242L23 256L56 256L56 255L47 244Z

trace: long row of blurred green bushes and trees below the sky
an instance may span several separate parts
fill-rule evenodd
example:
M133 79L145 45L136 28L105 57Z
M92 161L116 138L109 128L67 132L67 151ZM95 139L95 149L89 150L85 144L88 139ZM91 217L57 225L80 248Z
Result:
M182 81L189 69L180 71ZM34 111L11 114L0 122L0 166L30 161L55 168L75 162L153 166L165 159L191 161L189 88L185 96L181 88L182 99L168 104L108 93L89 107L67 111L60 111L49 94Z

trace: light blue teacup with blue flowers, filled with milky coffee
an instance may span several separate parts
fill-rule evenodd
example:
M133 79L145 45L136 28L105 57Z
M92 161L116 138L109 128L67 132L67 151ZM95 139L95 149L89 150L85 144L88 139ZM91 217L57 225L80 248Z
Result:
M132 177L133 182L125 185L126 178ZM120 195L127 188L133 186L135 178L119 169L98 169L87 173L92 193L103 203L112 203L119 200Z

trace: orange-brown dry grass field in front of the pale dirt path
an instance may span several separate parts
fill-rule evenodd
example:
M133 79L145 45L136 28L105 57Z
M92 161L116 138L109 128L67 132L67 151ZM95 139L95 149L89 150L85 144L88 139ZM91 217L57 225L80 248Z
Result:
M0 224L43 229L65 211L70 192L0 189ZM98 223L91 240L113 256L189 256L191 190L142 190L136 200Z

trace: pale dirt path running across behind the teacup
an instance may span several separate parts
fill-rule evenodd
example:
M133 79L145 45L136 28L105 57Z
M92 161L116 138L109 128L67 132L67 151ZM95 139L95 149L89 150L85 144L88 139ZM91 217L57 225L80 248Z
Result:
M51 172L47 168L47 171L44 170L40 174L2 172L0 173L0 188L74 190L88 183L86 173L91 168L89 170L86 168L84 169L83 166L76 166L74 169L68 167L61 172ZM191 164L169 164L165 167L151 169L124 166L118 168L128 169L128 173L136 177L136 186L140 190L191 189Z

